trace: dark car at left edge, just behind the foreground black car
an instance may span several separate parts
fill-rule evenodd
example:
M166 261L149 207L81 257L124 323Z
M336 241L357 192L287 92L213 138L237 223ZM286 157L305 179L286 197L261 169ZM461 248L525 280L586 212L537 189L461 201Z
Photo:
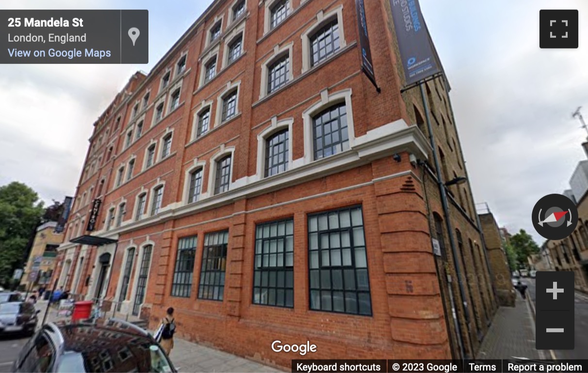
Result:
M33 335L38 323L35 306L28 302L0 303L0 335L25 333Z

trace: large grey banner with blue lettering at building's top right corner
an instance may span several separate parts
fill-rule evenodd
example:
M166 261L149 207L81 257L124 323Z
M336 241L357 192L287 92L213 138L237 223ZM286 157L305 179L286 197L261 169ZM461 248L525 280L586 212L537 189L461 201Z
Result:
M406 85L442 72L418 0L390 0Z

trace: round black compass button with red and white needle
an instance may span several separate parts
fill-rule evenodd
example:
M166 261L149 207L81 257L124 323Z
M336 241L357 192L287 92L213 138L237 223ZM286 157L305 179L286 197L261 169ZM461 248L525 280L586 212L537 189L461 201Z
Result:
M548 240L563 240L578 224L576 205L562 194L548 194L533 207L531 219L537 233Z

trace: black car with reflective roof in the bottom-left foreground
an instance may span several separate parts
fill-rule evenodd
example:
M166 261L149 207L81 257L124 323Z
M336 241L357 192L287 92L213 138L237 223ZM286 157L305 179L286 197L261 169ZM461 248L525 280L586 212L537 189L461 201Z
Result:
M24 345L12 372L177 372L151 334L118 319L51 322Z

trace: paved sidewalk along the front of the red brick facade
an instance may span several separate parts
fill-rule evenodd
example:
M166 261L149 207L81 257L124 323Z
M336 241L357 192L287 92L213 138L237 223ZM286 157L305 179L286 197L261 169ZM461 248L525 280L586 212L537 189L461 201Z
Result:
M43 320L47 307L46 301L36 303L36 308L41 310L39 318ZM58 317L55 308L49 308L46 322L66 320L65 317ZM40 326L41 322L39 322ZM154 331L151 331L153 334ZM174 347L169 355L173 365L181 372L282 372L279 369L268 367L227 352L215 350L193 342L175 338Z

